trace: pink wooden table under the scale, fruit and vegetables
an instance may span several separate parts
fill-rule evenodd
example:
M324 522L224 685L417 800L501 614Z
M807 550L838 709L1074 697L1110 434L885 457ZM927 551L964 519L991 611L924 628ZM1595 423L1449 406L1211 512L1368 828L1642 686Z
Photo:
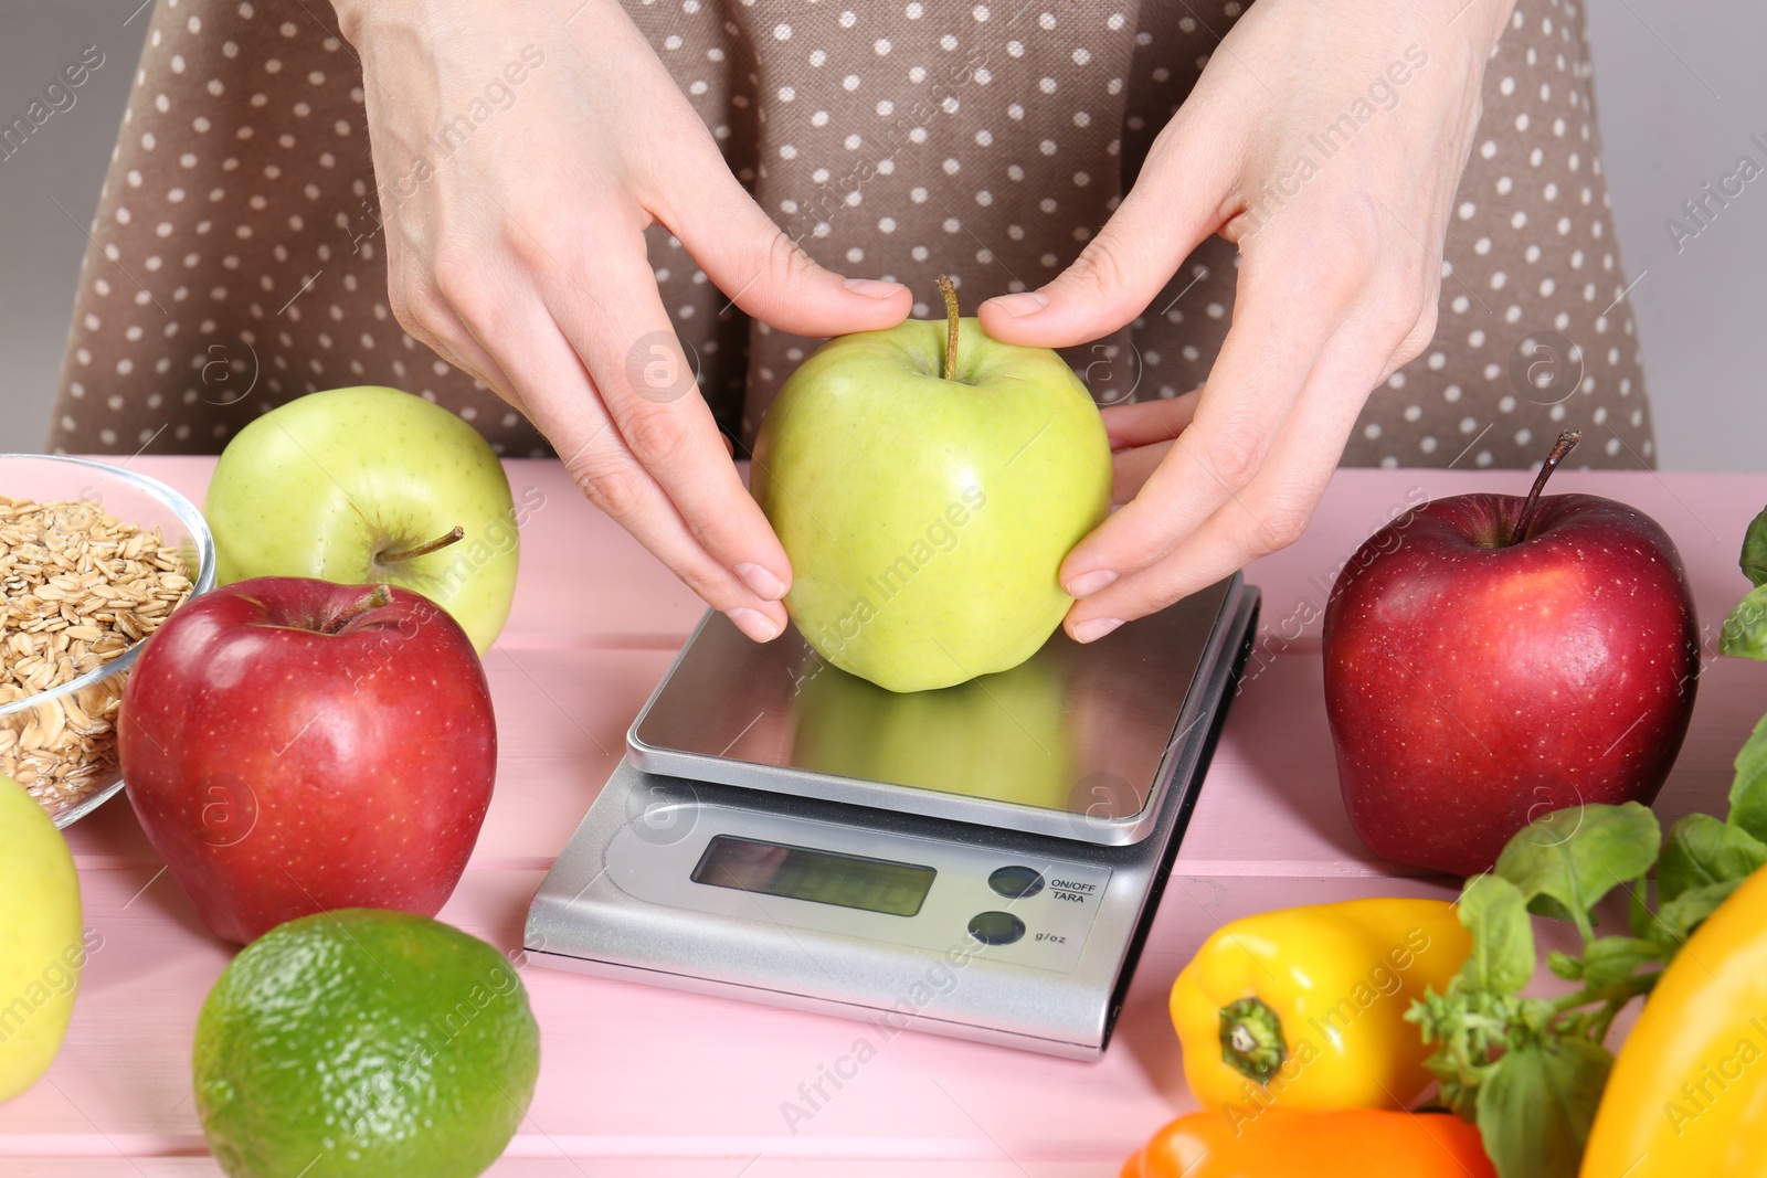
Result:
M198 503L212 459L138 459ZM700 616L700 602L578 496L557 463L512 461L523 535L514 613L486 659L502 736L497 800L442 918L512 950L528 899L620 756L624 733ZM523 970L542 1031L539 1091L491 1171L767 1178L1106 1178L1191 1106L1166 991L1217 922L1354 895L1452 895L1361 848L1338 798L1320 691L1318 615L1339 563L1422 498L1520 491L1516 472L1345 470L1306 539L1248 572L1263 641L1228 721L1140 971L1099 1063L929 1035L876 1044L859 1077L793 1134L781 1102L853 1049L862 1024ZM1633 503L1675 537L1716 634L1748 588L1735 567L1767 475L1560 472L1555 491ZM1710 650L1710 646L1709 646ZM1710 657L1657 811L1723 812L1730 759L1767 712L1767 673ZM219 1173L191 1102L196 1012L230 957L198 924L125 800L69 832L87 922L102 936L67 1044L0 1106L7 1178Z

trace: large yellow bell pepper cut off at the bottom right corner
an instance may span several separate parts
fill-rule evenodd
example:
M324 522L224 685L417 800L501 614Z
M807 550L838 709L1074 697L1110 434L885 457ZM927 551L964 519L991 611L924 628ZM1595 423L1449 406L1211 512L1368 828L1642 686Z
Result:
M1767 867L1663 971L1620 1046L1581 1178L1767 1173Z

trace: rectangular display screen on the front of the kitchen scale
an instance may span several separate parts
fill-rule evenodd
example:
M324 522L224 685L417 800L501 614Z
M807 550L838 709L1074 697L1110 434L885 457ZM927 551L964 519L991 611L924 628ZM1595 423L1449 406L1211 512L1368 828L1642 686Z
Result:
M921 911L937 874L933 867L917 864L834 855L721 834L707 844L691 880L813 904L914 917Z

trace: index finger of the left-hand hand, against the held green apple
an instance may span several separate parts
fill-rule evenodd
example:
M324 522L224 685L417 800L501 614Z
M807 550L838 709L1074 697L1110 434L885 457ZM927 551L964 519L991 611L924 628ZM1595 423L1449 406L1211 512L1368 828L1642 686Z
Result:
M594 251L595 286L615 295L597 297L550 265L551 281L542 283L541 297L588 367L624 449L705 551L760 599L776 602L792 585L792 563L726 456L657 297L641 240L634 235L603 249L585 240L578 249ZM576 258L587 261L581 253ZM783 608L770 616L783 616Z

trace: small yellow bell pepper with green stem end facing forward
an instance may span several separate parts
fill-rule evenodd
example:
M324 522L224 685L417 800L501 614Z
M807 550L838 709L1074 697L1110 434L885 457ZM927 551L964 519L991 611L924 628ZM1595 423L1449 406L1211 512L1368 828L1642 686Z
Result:
M1267 911L1203 941L1172 987L1184 1079L1230 1120L1270 1106L1401 1109L1430 1086L1405 1021L1447 987L1472 940L1445 901L1361 899Z

